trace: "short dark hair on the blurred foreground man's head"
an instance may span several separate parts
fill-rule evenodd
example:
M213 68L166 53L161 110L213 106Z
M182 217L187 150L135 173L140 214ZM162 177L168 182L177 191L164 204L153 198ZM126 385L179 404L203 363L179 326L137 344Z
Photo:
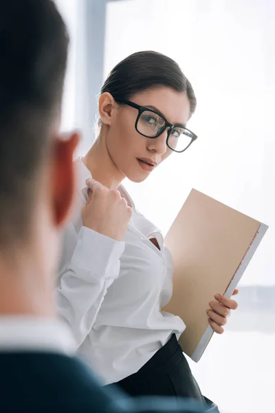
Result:
M68 42L54 1L1 1L1 247L28 233L35 177L61 110Z

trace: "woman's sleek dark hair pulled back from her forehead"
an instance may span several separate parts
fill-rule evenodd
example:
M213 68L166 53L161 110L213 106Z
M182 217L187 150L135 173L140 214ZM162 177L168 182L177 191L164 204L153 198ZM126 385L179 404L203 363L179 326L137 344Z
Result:
M158 52L137 52L126 57L113 68L100 92L109 92L114 99L124 100L157 86L186 92L192 116L197 99L191 83L173 59Z

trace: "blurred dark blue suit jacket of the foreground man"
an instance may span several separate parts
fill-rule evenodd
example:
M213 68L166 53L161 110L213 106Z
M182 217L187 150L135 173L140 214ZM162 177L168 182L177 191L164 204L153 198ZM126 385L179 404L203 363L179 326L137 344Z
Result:
M74 357L14 351L0 352L0 412L201 413L203 409L184 401L130 399L107 391Z

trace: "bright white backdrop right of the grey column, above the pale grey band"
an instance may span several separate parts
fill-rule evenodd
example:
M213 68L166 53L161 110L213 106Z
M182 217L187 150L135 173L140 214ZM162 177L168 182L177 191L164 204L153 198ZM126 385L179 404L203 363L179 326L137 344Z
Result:
M188 124L197 141L127 184L138 207L166 232L195 187L262 220L270 230L242 282L275 284L274 3L122 0L107 10L105 76L128 54L157 50L179 63L198 100Z

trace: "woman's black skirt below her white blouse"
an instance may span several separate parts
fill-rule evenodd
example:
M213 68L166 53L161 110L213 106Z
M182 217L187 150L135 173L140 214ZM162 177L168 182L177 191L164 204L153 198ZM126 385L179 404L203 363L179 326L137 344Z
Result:
M217 408L201 394L175 335L138 372L106 387L113 385L131 396L183 397Z

